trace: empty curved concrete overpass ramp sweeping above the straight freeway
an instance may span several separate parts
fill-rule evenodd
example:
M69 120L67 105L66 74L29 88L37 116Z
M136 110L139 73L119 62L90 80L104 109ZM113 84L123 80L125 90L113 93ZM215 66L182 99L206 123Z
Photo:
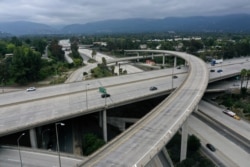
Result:
M187 53L150 52L172 54L188 61L190 67L186 80L153 111L93 154L82 166L145 166L198 105L208 84L205 63Z

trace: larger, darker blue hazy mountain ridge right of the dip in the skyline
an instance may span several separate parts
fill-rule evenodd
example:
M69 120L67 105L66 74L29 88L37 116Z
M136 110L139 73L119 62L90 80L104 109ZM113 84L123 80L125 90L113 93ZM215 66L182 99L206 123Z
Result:
M165 19L107 20L87 24L68 25L64 33L118 33L118 32L250 32L250 15L211 17L169 17Z

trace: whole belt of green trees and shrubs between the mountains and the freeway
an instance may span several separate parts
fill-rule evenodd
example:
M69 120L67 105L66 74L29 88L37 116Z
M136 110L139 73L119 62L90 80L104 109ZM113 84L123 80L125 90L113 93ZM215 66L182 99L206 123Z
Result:
M73 63L67 63L64 50L58 44L60 39L70 39L70 57ZM0 39L0 81L4 85L28 85L38 81L50 80L51 84L62 83L70 71L83 66L78 52L79 45L92 45L92 59L95 62L97 52L110 56L135 56L125 53L129 49L174 50L194 54L204 61L212 58L233 58L250 55L249 34L222 33L148 33L113 34L79 36L23 36ZM47 49L46 49L47 48ZM156 64L162 64L162 58L147 58ZM165 60L166 67L173 60ZM178 64L182 64L178 60ZM161 67L165 68L165 67ZM117 75L113 67L105 63L92 70L92 78ZM153 68L152 68L153 69ZM120 74L126 74L119 69Z

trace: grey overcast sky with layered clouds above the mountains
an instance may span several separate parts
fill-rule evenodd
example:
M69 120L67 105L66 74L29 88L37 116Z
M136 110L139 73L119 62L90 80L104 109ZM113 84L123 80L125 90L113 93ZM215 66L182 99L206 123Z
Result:
M0 0L0 22L48 25L108 19L250 13L250 0Z

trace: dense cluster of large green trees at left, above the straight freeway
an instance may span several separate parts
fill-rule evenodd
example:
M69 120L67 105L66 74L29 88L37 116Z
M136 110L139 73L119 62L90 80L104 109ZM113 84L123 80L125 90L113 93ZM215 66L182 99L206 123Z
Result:
M46 46L47 56L43 59ZM58 45L58 40L43 38L13 37L9 40L0 40L0 79L2 84L24 85L30 82L43 80L55 74L55 71L67 68L64 63L64 52Z

